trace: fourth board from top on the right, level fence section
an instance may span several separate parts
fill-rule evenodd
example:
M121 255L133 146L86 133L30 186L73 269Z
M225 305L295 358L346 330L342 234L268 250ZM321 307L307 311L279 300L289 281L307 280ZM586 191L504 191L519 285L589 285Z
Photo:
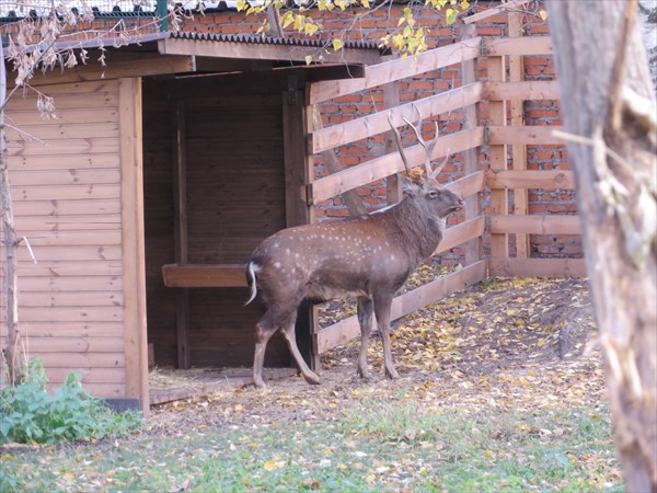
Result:
M575 174L562 170L488 170L489 188L575 190Z

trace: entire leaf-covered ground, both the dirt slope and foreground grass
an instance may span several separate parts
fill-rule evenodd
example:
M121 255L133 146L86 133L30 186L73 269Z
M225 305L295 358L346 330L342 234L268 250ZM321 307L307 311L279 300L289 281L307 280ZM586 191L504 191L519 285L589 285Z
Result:
M324 317L350 311L332 303ZM7 484L622 491L596 335L585 282L492 280L396 324L400 380L383 377L376 336L373 377L358 378L355 341L323 356L321 386L292 377L162 405L129 439L5 449Z

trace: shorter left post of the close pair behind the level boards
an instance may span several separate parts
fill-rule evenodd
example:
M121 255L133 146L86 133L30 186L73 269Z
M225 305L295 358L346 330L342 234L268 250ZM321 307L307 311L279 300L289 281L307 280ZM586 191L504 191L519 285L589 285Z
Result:
M488 80L491 82L504 82L506 79L506 60L504 56L488 57L487 60ZM488 103L489 124L494 126L506 125L507 112L506 101L491 101ZM507 147L506 145L489 145L491 170L502 171L507 169ZM491 191L491 215L506 216L509 211L508 191ZM508 260L509 241L507 233L491 234L491 260Z

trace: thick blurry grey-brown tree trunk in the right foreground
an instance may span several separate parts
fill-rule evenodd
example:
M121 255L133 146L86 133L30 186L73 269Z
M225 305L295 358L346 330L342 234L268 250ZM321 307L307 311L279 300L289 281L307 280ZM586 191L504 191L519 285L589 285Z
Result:
M636 7L551 0L549 20L614 442L627 491L655 492L656 116Z

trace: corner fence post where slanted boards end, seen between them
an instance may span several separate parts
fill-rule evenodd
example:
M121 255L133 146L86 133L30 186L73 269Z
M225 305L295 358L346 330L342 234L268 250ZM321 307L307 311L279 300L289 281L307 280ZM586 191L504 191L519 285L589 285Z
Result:
M461 34L462 41L476 37L475 24L463 24ZM461 62L461 82L463 85L471 84L476 81L476 65L479 57L473 60ZM476 128L480 124L479 103L463 107L464 127ZM479 152L480 149L473 148L463 151L463 174L474 173L479 169ZM482 204L480 194L471 195L465 198L465 220L480 217L482 214ZM465 243L465 265L474 264L482 257L482 238L475 238Z

